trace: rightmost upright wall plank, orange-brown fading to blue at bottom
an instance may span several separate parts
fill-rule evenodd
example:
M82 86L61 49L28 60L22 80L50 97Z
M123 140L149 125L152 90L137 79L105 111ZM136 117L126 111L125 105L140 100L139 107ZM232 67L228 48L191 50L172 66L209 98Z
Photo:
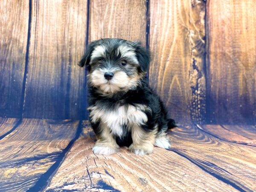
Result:
M217 124L256 124L255 0L207 1L207 111Z

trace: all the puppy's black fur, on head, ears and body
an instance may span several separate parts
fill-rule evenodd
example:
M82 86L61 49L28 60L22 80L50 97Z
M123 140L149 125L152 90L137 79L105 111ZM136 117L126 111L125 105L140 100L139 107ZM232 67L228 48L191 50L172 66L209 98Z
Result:
M121 44L128 44L135 49L137 60L139 61L140 66L138 66L137 72L142 73L148 70L150 57L149 52L146 51L139 42L130 42L122 39L101 39L99 41L93 41L88 47L87 50L79 62L79 66L83 67L86 65L88 67L89 73L91 70L91 65L93 62L91 61L91 54L94 48L97 45L104 44L106 49L106 55L108 58L98 58L98 60L111 60L118 61L120 55L115 54L115 50ZM129 58L127 58L129 60ZM97 61L98 62L98 61ZM106 61L107 62L107 61ZM105 96L100 94L100 90L98 87L93 86L92 84L88 84L88 92L89 92L89 106L93 106L96 104L102 108L102 110L114 110L116 107L120 105L136 105L142 104L148 106L151 109L151 112L145 111L146 116L148 117L148 121L145 125L142 125L144 131L149 132L155 128L155 125L158 125L158 133L166 131L168 128L175 127L175 121L173 119L168 118L168 114L166 108L163 105L163 102L160 100L159 96L155 94L150 87L148 87L147 81L144 78L141 78L140 83L137 87L133 87L128 91L118 91L116 93L111 94L111 96ZM90 111L89 111L90 112ZM91 121L91 119L90 119ZM100 135L100 120L98 122L92 122L93 131L96 135ZM116 137L116 142L118 145L129 146L132 143L131 132L127 131L126 125L123 126L123 135L122 137Z

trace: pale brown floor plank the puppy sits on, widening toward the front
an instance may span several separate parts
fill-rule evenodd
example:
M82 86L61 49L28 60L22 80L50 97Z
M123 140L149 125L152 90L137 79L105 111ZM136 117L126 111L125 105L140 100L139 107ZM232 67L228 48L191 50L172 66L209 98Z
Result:
M186 140L178 142L183 145ZM84 129L84 136L67 154L47 192L236 191L173 151L154 148L151 155L137 156L122 148L117 154L94 155L91 151L94 143L91 128Z

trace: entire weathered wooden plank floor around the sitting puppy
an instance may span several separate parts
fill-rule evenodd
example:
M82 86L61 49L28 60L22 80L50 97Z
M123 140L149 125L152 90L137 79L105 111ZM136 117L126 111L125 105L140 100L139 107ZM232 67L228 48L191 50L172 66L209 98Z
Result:
M256 127L180 125L172 147L91 151L87 121L0 118L0 191L256 191Z

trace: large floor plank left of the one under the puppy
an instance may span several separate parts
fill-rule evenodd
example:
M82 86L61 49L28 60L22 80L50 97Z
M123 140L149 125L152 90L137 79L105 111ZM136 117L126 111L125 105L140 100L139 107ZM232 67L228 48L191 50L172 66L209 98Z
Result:
M78 121L23 119L0 140L0 191L26 191L73 139Z

